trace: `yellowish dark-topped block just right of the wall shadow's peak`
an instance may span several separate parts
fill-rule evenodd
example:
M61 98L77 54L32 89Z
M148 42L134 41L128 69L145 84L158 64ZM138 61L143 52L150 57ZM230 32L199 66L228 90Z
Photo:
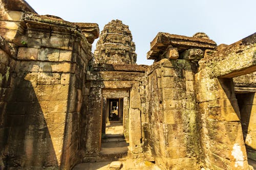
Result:
M39 72L38 84L60 84L60 74L52 72Z

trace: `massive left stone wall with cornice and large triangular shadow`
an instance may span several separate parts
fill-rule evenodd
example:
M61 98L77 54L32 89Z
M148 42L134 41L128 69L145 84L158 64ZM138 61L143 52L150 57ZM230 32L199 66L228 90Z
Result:
M1 6L1 20L18 20L1 21L1 168L70 169L85 150L91 44L74 23L13 3L22 9Z

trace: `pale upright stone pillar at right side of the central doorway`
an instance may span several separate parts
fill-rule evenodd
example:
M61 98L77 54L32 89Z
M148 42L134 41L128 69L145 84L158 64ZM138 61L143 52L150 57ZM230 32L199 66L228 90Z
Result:
M139 86L133 86L130 91L129 148L135 154L142 152L140 109L141 100L139 94Z

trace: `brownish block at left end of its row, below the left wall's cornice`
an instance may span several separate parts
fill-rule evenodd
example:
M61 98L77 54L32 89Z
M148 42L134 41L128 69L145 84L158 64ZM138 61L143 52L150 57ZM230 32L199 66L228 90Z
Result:
M37 48L19 47L17 59L18 60L37 60L37 55L38 55Z

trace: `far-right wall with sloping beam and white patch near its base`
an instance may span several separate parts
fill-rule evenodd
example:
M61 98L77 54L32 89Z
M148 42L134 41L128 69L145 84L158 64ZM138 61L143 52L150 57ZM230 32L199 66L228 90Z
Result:
M232 78L255 71L253 37L255 34L199 61L197 102L202 122L203 158L209 168L248 169L243 118Z

